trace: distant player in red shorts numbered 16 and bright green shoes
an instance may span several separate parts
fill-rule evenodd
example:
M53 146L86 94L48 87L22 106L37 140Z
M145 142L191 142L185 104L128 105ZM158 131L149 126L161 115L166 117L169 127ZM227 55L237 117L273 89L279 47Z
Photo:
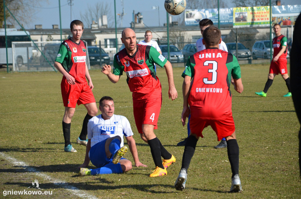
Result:
M276 37L273 39L274 55L268 73L268 81L265 83L263 91L255 92L255 94L265 97L268 89L272 86L275 76L280 73L288 89L288 93L284 97L290 97L292 93L290 92L290 78L287 74L287 38L281 35L281 26L279 24L275 24L273 29Z

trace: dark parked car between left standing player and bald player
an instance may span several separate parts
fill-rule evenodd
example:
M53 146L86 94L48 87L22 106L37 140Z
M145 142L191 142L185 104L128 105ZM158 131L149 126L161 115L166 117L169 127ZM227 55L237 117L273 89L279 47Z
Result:
M90 65L110 64L110 57L104 49L97 46L88 46Z

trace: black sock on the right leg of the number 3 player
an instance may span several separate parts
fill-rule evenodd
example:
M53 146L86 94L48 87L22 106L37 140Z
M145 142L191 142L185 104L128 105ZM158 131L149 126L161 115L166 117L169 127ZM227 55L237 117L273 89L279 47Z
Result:
M229 139L227 141L228 158L231 165L232 177L238 174L239 167L239 147L236 139Z

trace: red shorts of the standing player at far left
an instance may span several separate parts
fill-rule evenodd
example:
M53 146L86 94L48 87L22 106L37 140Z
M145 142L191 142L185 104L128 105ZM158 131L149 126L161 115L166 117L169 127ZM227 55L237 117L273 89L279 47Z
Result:
M75 108L76 103L80 105L95 102L94 95L87 82L70 85L66 78L63 78L61 91L65 107Z

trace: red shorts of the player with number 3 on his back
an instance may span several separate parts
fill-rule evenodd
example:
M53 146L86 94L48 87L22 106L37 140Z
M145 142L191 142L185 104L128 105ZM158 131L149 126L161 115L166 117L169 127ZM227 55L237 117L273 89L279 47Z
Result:
M235 131L235 124L232 113L228 118L223 120L210 120L203 118L190 117L190 131L197 136L203 137L202 131L204 128L211 126L217 135L217 140L220 141L224 137L231 136Z

